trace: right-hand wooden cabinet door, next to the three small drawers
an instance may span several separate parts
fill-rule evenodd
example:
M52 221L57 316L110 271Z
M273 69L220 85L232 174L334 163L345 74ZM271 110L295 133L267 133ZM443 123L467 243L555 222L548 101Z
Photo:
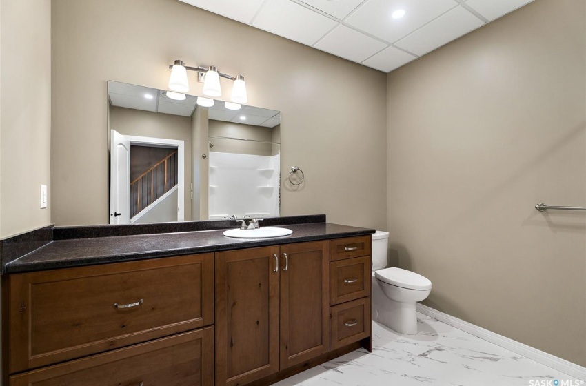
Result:
M282 245L281 369L330 350L329 241Z

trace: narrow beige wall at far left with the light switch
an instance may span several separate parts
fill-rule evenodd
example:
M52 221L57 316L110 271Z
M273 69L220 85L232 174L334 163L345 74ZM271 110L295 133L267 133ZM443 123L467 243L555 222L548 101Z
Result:
M50 223L51 8L0 1L0 237Z

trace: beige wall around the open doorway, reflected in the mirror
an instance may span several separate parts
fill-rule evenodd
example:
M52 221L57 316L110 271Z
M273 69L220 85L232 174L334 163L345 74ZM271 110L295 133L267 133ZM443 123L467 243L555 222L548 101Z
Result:
M192 182L192 138L191 118L189 116L162 114L109 105L109 127L120 134L148 136L151 138L176 139L185 143L185 221L192 219L191 182ZM108 181L106 181L108 182ZM106 208L107 212L109 211ZM150 217L154 219L154 217ZM141 221L146 222L146 221Z

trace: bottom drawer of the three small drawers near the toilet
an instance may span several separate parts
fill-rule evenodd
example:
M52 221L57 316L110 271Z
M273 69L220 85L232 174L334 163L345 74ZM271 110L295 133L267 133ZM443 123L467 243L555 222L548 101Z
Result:
M330 307L330 349L370 336L370 297Z

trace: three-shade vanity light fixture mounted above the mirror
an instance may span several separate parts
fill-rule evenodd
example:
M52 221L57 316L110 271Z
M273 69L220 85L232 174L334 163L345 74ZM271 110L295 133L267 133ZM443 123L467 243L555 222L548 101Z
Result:
M203 94L212 97L221 96L222 88L220 85L220 77L222 77L225 79L230 79L234 82L231 96L232 102L248 102L246 83L242 75L236 75L236 77L232 77L232 75L223 74L213 65L210 65L210 67L208 68L188 67L181 60L176 60L174 64L169 65L169 68L171 69L171 76L169 78L169 89L174 92L185 93L189 91L187 71L190 70L199 72L201 74L205 74L205 79L203 81Z

